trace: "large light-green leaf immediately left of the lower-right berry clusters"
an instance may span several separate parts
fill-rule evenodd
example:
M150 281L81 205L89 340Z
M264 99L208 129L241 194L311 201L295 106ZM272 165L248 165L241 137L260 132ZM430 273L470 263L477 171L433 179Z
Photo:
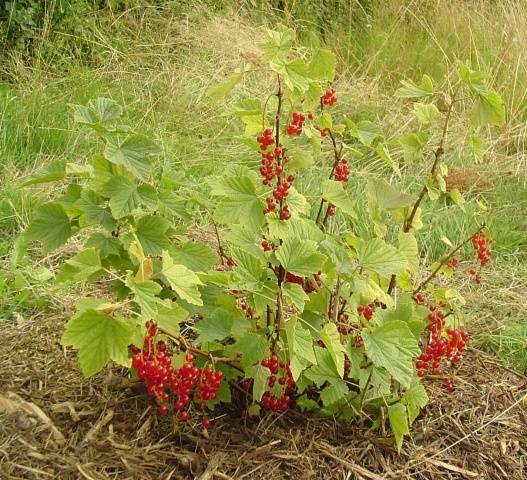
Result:
M420 350L417 340L403 321L393 321L362 332L366 355L374 365L384 367L403 387L415 376L413 357Z

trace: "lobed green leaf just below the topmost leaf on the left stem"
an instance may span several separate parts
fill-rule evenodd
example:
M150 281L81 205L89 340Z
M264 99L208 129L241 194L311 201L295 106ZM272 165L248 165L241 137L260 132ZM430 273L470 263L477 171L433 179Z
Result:
M144 135L109 139L104 156L115 165L123 165L137 178L148 180L151 174L150 155L159 154L159 147Z

